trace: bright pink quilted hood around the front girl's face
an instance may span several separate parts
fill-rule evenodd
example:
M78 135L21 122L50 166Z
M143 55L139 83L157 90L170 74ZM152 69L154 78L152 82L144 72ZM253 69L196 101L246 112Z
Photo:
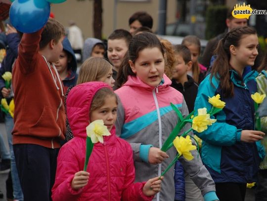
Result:
M66 101L66 110L70 127L75 137L86 138L86 127L90 121L89 109L92 99L95 93L104 87L112 90L108 84L100 81L85 82L76 85L70 90ZM115 126L110 132L115 133Z

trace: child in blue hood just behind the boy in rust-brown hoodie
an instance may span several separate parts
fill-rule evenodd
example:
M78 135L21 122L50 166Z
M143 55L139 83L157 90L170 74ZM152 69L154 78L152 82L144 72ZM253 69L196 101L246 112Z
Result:
M77 71L77 61L74 51L71 47L70 41L67 37L64 38L63 50L59 56L59 60L54 63L59 77L63 81L65 91L69 86L76 85L78 75Z

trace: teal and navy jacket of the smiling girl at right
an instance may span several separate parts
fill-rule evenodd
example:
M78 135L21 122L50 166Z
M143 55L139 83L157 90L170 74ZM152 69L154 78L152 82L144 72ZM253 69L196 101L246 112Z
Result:
M202 161L216 183L219 182L255 182L260 161L265 156L261 142L241 142L242 130L254 130L254 103L251 94L257 92L255 78L258 73L250 67L244 69L242 80L235 71L230 71L230 79L234 84L234 96L224 98L220 82L215 77L210 82L210 75L198 88L195 111L206 107L211 109L208 98L221 95L225 107L215 115L217 122L202 133L195 133L203 140ZM213 86L214 85L214 86Z

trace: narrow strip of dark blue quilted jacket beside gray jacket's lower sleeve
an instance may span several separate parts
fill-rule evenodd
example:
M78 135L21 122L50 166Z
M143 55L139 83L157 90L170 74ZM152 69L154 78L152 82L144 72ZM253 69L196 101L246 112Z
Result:
M185 201L184 171L180 161L175 163L175 201Z

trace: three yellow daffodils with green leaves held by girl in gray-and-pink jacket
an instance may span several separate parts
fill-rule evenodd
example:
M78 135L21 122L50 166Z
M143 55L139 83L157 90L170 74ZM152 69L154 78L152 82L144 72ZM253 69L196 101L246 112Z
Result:
M161 150L167 152L172 146L175 146L178 151L178 155L170 163L170 165L166 168L166 170L162 173L161 176L163 176L174 165L174 163L178 160L180 156L183 155L184 159L188 161L193 159L193 156L189 151L195 150L196 146L192 145L192 141L190 139L190 137L193 139L194 137L189 136L188 133L192 130L195 130L197 132L203 132L204 130L206 130L209 125L212 125L217 121L216 119L211 119L210 116L219 113L223 110L223 107L225 106L225 102L220 100L219 94L213 97L209 97L209 103L212 104L212 108L208 113L207 108L200 108L198 109L198 114L196 116L193 116L195 112L193 111L185 118L182 117L182 114L178 110L178 108L171 103L172 108L178 115L178 123L167 138L167 140L164 142ZM181 136L177 136L186 123L191 123L191 128L186 130ZM184 136L186 136L186 138L184 138ZM199 150L198 141L196 139L194 140Z

